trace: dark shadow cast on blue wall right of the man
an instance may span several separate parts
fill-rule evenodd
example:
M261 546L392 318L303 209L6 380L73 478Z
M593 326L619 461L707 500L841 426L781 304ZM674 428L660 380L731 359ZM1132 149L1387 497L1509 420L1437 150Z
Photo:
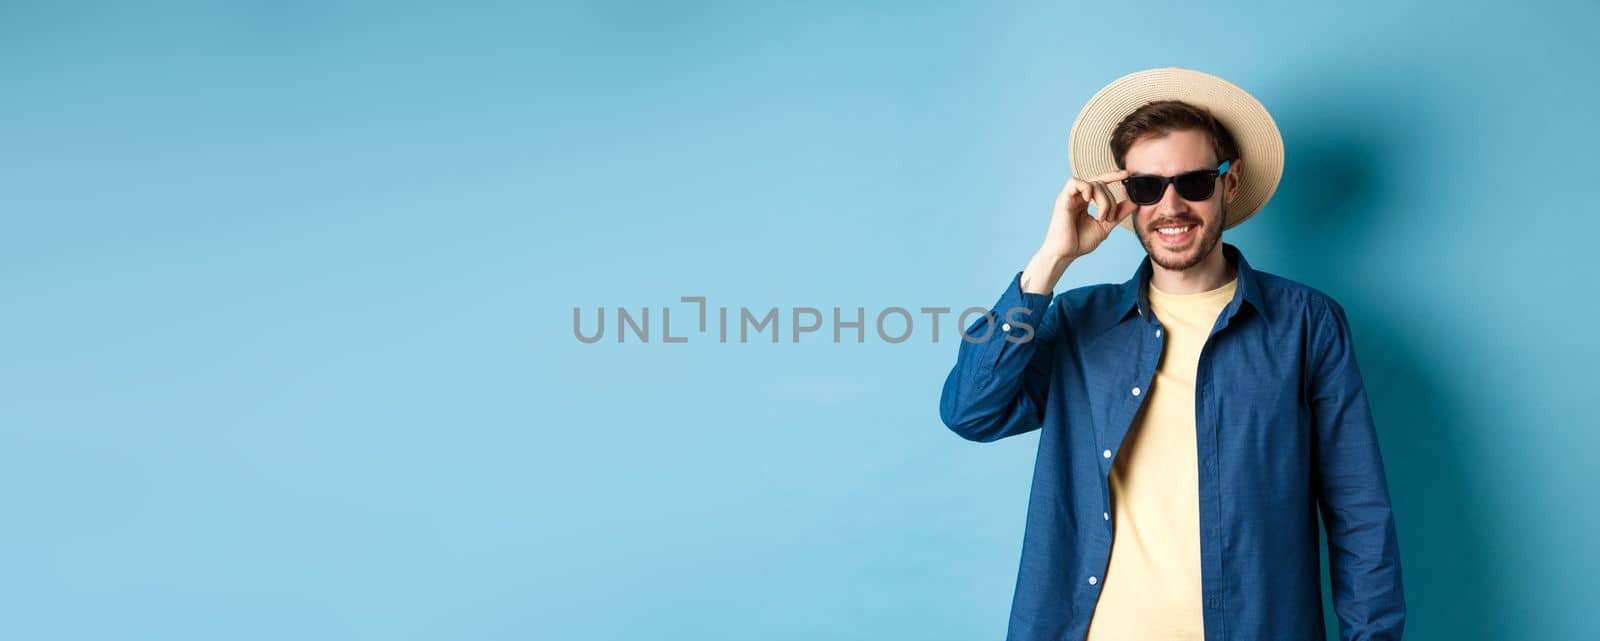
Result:
M1446 385L1432 366L1438 355L1406 336L1432 329L1424 318L1392 313L1414 293L1386 283L1387 270L1427 269L1390 249L1381 219L1400 209L1392 166L1394 149L1429 153L1434 131L1429 107L1416 96L1416 75L1395 69L1294 70L1315 85L1293 90L1290 101L1270 104L1285 136L1288 166L1259 225L1259 245L1278 248L1262 269L1333 294L1349 312L1357 363L1378 424L1389 491L1400 534L1408 604L1406 641L1517 638L1507 622L1531 604L1498 587L1506 575L1499 550L1482 524L1493 523L1478 496L1480 470L1470 468L1467 436L1488 433L1488 417L1470 416L1462 392ZM1299 82L1299 80L1296 80ZM1438 158L1448 165L1448 158ZM1414 166L1414 165L1413 165ZM1408 216L1442 213L1408 211ZM1310 251L1307 251L1310 249ZM1323 539L1326 567L1326 539ZM1323 604L1328 638L1338 636L1326 569Z

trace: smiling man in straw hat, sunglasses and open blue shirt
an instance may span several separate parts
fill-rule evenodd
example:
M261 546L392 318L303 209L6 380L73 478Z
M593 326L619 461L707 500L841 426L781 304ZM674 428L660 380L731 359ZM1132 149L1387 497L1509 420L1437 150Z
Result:
M1344 309L1222 241L1282 174L1266 107L1144 70L1085 106L1070 147L1093 177L1061 190L939 401L973 441L1040 430L1006 638L1323 639L1320 510L1339 638L1398 641L1395 521ZM1051 297L1118 224L1147 253L1133 278Z

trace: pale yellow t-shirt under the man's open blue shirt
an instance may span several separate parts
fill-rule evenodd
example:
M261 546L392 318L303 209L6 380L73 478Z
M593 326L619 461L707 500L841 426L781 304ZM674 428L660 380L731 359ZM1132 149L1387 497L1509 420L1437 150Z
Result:
M1238 278L1195 294L1150 285L1165 352L1110 470L1115 534L1086 641L1203 641L1195 368Z

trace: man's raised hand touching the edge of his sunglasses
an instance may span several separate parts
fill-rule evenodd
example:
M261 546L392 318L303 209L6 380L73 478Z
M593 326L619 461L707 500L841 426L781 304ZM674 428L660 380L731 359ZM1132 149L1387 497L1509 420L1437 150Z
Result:
M1128 169L1109 171L1088 181L1077 176L1067 181L1050 213L1045 243L1022 270L1022 291L1034 294L1054 291L1056 281L1074 259L1094 251L1110 235L1112 227L1139 208L1131 200L1118 203L1106 187L1106 182L1123 177L1128 177ZM1090 216L1090 203L1094 203L1099 217Z

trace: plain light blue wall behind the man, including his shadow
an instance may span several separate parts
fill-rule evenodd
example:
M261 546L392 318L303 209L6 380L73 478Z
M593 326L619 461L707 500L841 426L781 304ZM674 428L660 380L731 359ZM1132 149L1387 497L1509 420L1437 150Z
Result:
M8 2L0 636L997 639L1037 435L939 422L954 320L587 345L573 309L989 305L1083 101L1184 66L1283 131L1224 238L1350 313L1406 638L1581 638L1597 22Z

